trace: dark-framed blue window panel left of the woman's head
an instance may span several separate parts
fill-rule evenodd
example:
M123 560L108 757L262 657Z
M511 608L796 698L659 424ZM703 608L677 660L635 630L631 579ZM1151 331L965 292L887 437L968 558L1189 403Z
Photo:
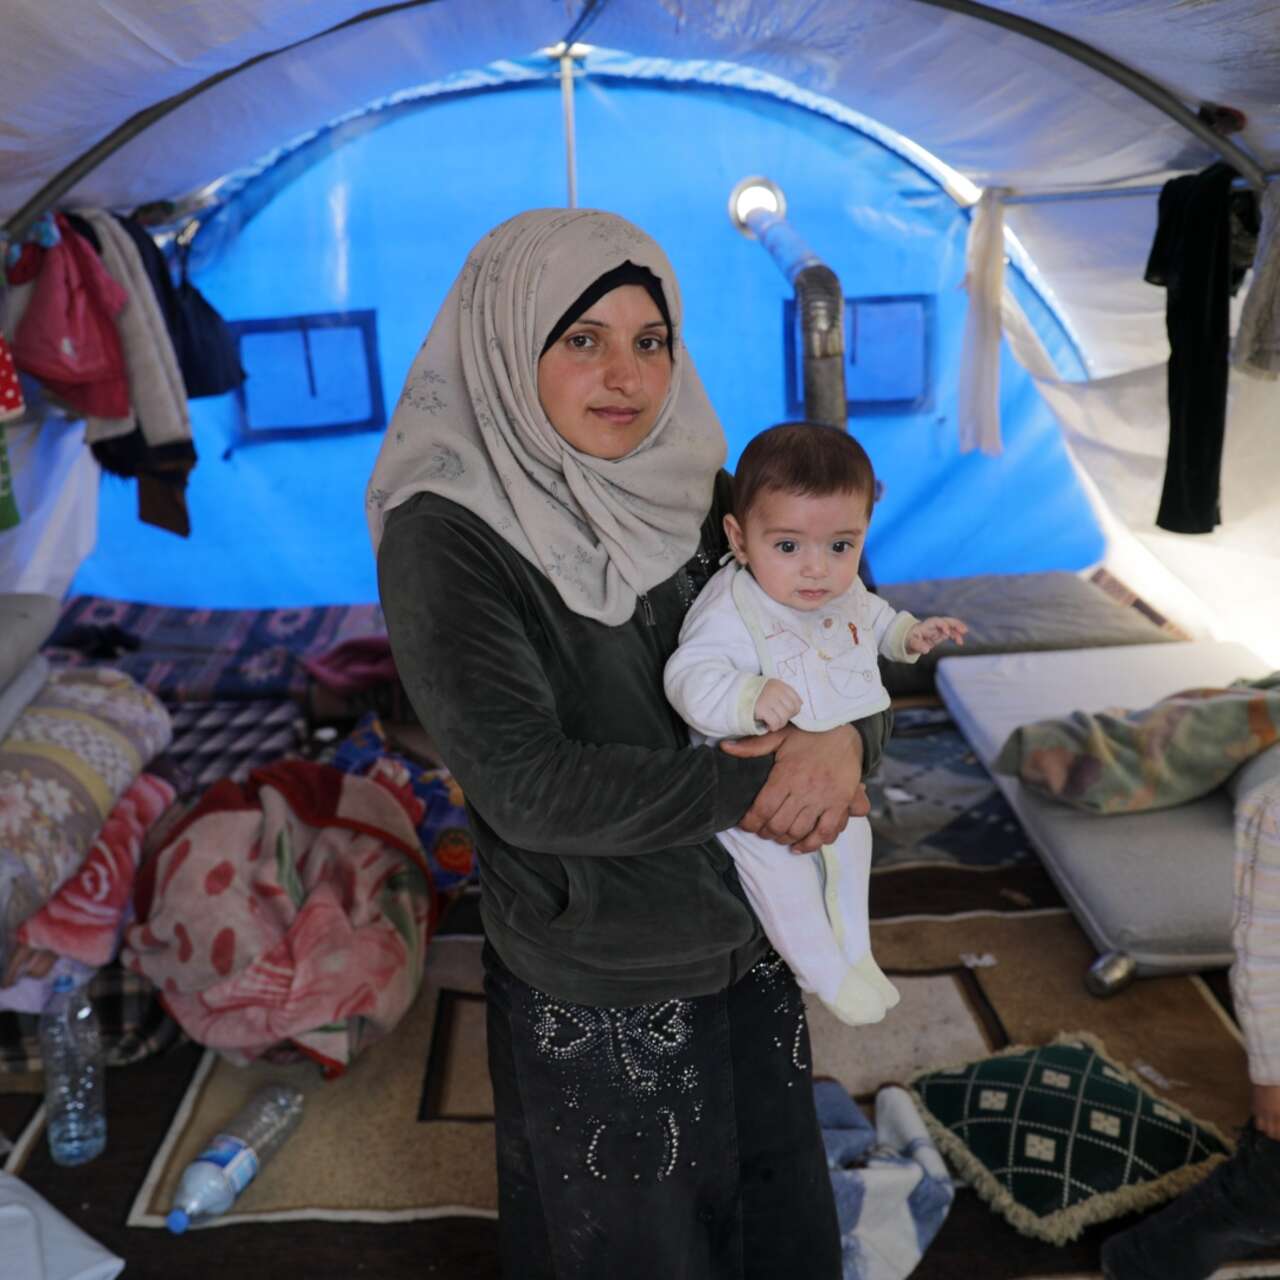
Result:
M246 379L239 443L380 431L387 425L375 311L234 320Z

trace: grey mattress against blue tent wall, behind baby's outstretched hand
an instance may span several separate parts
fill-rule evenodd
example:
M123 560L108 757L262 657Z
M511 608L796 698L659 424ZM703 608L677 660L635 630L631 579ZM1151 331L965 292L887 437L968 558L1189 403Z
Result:
M1178 639L1137 608L1065 570L884 582L876 591L895 609L906 609L918 618L941 613L969 625L964 648L946 640L916 663L882 662L884 687L895 696L932 694L938 662L956 654L1093 649Z

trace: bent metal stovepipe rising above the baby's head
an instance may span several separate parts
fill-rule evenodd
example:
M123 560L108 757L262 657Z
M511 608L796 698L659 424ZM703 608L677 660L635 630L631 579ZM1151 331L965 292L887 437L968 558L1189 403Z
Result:
M836 273L781 214L756 209L742 219L796 291L804 352L804 416L849 429L845 394L845 296Z

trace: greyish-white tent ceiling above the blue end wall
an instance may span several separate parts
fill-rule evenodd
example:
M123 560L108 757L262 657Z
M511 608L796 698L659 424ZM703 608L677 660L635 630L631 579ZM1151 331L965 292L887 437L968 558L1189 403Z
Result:
M10 0L0 51L0 211L134 113L360 14L360 0ZM554 42L581 0L434 0L311 41L182 106L73 197L183 195L401 88ZM1020 0L1041 20L1194 106L1242 106L1244 145L1280 156L1271 0ZM913 0L605 0L593 44L740 63L899 131L980 186L1151 180L1210 157L1128 90L1051 49Z

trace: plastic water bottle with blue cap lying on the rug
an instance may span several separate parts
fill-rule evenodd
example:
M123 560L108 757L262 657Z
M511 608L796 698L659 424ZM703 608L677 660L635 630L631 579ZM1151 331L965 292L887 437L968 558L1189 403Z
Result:
M169 1230L180 1235L200 1219L225 1213L302 1120L302 1094L269 1084L236 1112L232 1123L183 1170Z

